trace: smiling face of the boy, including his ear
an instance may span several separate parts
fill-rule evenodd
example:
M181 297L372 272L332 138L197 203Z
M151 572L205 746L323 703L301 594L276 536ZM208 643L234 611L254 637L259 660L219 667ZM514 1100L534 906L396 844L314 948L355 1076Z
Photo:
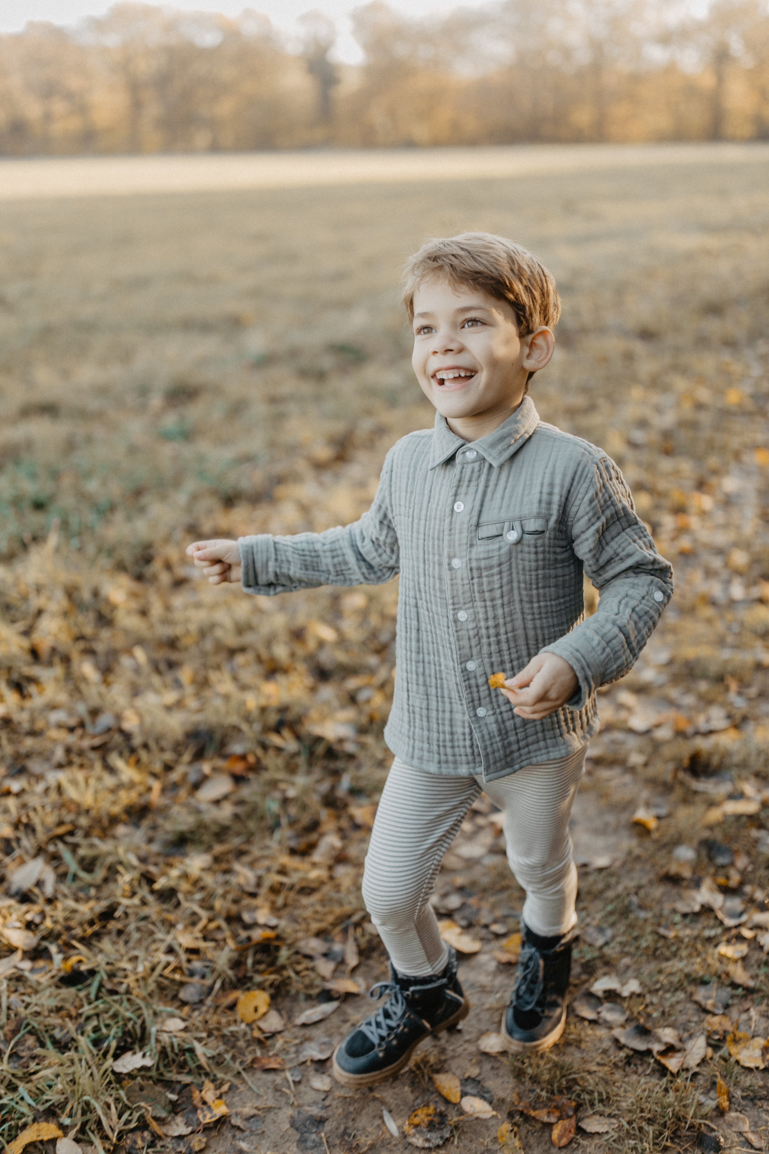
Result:
M529 372L544 368L552 343L549 329L519 337L511 305L472 285L435 277L414 294L412 365L422 391L460 436L520 405Z

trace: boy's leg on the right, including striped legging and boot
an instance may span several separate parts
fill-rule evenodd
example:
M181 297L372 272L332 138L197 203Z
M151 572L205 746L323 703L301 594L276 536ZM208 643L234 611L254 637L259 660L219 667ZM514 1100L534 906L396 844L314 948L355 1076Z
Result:
M529 765L487 793L505 812L507 859L526 902L515 988L502 1021L512 1050L546 1050L566 1022L566 990L576 924L576 869L568 820L586 750Z

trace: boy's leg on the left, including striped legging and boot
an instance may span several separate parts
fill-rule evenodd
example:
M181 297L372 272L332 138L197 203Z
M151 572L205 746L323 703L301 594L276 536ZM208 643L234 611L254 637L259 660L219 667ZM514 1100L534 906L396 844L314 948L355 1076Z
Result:
M412 770L395 759L377 809L363 897L390 953L390 981L371 996L387 1001L337 1047L334 1078L372 1086L408 1063L429 1034L448 1029L469 1005L457 954L440 939L429 905L440 861L473 801L474 778Z

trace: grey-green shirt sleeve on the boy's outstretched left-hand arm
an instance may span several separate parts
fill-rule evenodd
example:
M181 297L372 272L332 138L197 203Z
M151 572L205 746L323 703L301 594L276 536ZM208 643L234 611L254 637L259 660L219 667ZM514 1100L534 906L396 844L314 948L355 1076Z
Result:
M360 520L323 533L239 538L243 590L272 597L317 585L380 585L395 577L400 550L391 514L392 454Z

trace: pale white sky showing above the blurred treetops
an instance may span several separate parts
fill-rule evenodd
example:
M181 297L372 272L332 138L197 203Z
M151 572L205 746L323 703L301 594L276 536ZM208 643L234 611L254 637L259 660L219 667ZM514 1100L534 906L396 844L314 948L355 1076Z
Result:
M172 0L171 8L190 12L220 12L236 16L243 8L256 8L284 31L297 31L296 17L309 9L321 9L339 29L334 55L357 63L360 48L352 37L348 14L363 0ZM480 8L487 0L387 0L391 8L405 15L421 17L442 14L452 8ZM0 32L18 32L30 20L47 20L54 24L76 24L83 16L100 16L111 7L110 0L0 0Z

